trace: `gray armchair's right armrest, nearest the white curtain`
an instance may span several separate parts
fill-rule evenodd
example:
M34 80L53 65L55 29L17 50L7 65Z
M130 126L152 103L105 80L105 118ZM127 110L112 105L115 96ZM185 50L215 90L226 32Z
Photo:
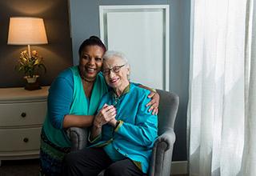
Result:
M166 130L166 132L160 135L154 142L152 156L150 159L150 176L170 175L174 142L175 134L172 128Z

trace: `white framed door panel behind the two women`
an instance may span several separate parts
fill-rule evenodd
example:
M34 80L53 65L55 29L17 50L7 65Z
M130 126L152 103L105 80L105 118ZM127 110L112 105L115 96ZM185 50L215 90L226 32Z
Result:
M169 90L169 6L100 6L101 39L126 54L131 82Z

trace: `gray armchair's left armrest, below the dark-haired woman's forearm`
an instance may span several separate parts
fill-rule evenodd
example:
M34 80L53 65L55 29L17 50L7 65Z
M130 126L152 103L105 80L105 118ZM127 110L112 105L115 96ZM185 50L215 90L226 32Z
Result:
M67 130L67 134L72 142L71 150L81 150L87 145L87 129L79 127L70 127Z

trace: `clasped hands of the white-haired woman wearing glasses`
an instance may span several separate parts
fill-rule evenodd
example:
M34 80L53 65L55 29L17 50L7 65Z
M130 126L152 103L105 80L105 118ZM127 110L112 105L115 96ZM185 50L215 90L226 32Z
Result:
M102 110L98 112L96 117L94 118L94 126L98 128L102 127L104 124L113 120L116 116L116 110L114 106L104 105Z

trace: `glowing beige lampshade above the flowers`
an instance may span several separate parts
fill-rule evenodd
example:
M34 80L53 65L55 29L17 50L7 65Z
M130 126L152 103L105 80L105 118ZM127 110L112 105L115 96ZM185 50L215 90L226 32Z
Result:
M10 18L9 45L38 45L48 43L42 18Z

